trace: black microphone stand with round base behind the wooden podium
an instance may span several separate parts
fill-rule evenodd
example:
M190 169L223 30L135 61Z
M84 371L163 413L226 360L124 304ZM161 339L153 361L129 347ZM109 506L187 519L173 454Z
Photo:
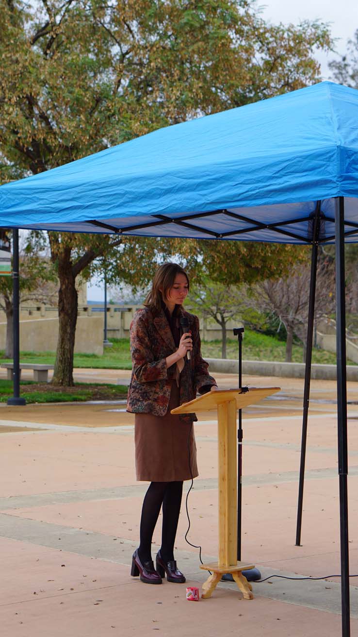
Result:
M239 342L239 389L242 389L242 341L243 327L234 327L234 336L238 337ZM242 457L243 457L243 429L242 429L242 410L239 410L238 417L238 562L241 562L241 519L242 519ZM248 582L261 580L261 573L258 568L250 568L242 571ZM224 573L222 576L224 582L233 582L234 578L231 573Z

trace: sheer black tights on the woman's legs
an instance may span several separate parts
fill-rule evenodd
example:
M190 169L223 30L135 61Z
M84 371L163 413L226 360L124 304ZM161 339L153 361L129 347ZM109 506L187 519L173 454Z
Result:
M152 559L152 537L163 506L161 556L164 562L174 559L176 528L182 503L183 482L151 482L141 510L140 547L142 562Z

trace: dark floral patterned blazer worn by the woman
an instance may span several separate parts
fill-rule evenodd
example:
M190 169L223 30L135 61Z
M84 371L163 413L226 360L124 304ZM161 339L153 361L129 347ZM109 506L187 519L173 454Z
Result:
M208 363L201 357L199 319L180 309L180 317L188 318L193 349L190 361L180 374L180 404L204 393L215 379L208 373ZM131 322L132 377L128 390L127 412L153 413L164 416L168 411L171 383L175 379L176 364L167 368L166 357L176 351L173 334L163 310L137 310ZM197 420L196 415L183 414L182 420Z

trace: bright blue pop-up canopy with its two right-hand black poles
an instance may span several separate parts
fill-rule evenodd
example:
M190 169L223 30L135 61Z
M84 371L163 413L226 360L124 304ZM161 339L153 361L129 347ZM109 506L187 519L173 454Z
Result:
M160 129L0 187L1 227L312 246L301 505L317 247L336 244L345 636L350 611L344 243L358 241L357 122L358 91L323 82ZM296 543L300 533L299 519Z

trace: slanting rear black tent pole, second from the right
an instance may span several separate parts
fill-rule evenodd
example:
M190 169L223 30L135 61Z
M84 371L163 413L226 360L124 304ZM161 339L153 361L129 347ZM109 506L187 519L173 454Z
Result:
M320 203L320 202L319 202ZM303 485L304 485L304 464L306 462L306 441L307 441L307 422L308 422L308 406L310 404L310 385L311 385L311 362L312 362L312 343L313 343L313 323L315 317L315 294L317 280L317 256L318 256L318 238L319 238L319 214L320 206L317 206L313 222L313 244L311 254L311 277L310 277L310 299L308 301L308 321L307 321L307 340L306 340L306 366L304 368L304 392L303 392L303 421L302 421L302 439L301 439L301 464L299 467L299 487L298 487L298 504L297 504L297 527L296 527L296 546L301 546L301 526L302 526L302 506L303 506Z

